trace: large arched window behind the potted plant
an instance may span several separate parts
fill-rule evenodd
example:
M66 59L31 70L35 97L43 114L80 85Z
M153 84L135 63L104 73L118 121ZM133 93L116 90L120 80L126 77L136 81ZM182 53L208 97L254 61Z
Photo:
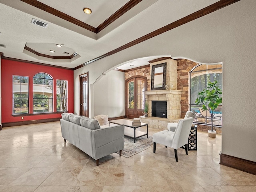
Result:
M195 104L198 92L206 88L208 82L219 82L222 89L222 64L200 64L190 71L190 110L196 112L196 123L211 124L210 114L200 112L202 106ZM202 114L203 113L203 114ZM222 126L222 104L214 111L214 125Z

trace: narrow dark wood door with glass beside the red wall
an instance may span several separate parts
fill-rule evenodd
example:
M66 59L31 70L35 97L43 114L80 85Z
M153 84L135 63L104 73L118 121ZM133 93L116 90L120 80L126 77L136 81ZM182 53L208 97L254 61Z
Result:
M79 115L88 117L88 73L80 75L80 110Z

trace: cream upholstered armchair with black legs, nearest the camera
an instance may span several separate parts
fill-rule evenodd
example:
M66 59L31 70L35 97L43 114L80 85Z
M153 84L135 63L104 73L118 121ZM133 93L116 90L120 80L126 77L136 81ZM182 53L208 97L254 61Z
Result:
M188 155L188 136L190 134L191 125L194 118L184 118L179 120L174 132L164 130L153 134L154 149L156 153L156 143L165 145L165 147L174 148L175 159L178 162L178 148L184 146L186 154Z

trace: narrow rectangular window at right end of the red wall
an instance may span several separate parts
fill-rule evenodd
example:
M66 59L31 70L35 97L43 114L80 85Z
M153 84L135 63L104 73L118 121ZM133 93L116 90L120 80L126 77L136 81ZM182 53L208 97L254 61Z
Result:
M57 112L67 111L68 81L56 80Z

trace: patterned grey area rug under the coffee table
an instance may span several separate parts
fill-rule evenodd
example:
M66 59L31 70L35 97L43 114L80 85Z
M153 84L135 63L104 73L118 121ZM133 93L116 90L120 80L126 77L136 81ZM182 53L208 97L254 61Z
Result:
M124 150L122 150L122 156L128 158L151 146L153 146L152 136L148 136L148 138L147 136L137 138L136 143L134 143L133 138L124 136ZM117 153L119 154L119 152Z

